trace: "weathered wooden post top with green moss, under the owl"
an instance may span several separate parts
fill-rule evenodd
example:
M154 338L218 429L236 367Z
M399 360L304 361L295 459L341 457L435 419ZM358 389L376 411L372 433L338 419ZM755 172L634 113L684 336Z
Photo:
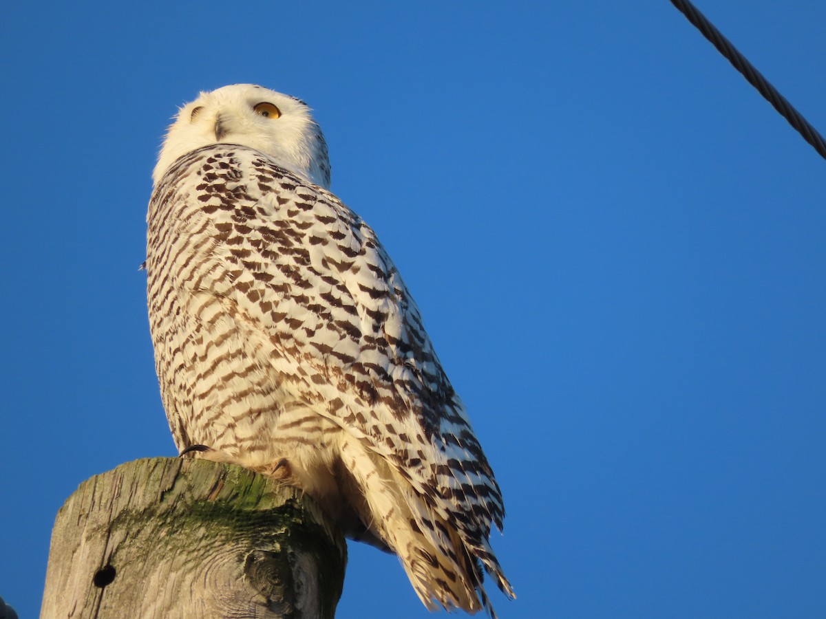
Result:
M333 619L344 538L301 491L152 458L86 480L52 532L41 619Z

